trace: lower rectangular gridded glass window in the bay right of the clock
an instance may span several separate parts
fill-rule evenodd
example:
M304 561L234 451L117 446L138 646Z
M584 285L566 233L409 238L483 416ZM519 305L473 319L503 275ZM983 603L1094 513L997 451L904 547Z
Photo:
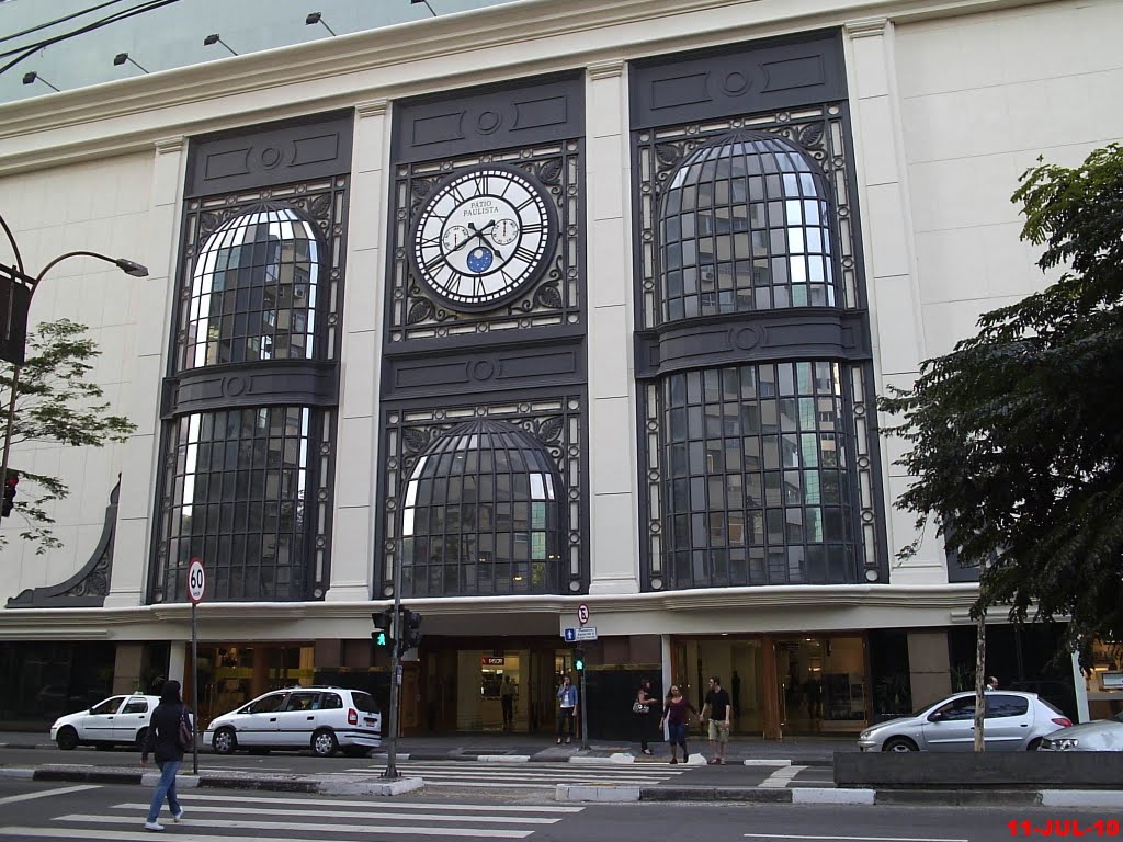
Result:
M852 577L837 364L674 374L663 399L672 587Z

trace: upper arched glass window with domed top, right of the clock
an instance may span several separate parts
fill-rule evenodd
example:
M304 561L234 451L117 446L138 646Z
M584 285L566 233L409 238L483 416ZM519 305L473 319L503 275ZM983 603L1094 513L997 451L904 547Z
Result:
M775 135L696 149L659 214L663 320L834 306L828 196L818 166Z

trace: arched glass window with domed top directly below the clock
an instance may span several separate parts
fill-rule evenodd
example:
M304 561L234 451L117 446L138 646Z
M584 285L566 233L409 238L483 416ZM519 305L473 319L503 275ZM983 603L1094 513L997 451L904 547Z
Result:
M402 500L402 593L562 593L565 493L546 446L501 421L459 424L418 457Z

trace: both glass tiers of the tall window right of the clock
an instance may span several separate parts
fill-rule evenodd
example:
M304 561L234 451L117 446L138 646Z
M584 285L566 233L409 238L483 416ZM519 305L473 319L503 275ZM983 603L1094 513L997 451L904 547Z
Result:
M776 311L841 309L830 195L818 165L779 136L738 129L685 156L657 219L663 323L711 317L765 331ZM821 347L816 336L807 348ZM750 350L651 390L659 586L857 580L851 374L811 354Z

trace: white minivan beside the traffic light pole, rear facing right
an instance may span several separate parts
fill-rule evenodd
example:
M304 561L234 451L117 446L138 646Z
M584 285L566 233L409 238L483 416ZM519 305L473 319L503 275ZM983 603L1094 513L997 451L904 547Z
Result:
M203 745L219 754L310 748L318 757L339 749L363 757L381 744L382 714L374 698L346 687L273 690L217 716L203 734Z

